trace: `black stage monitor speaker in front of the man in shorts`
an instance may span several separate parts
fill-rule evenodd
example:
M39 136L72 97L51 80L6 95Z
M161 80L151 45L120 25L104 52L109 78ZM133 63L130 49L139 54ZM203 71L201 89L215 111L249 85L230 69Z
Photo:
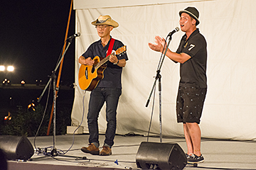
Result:
M139 146L136 164L141 169L183 169L186 155L178 144L142 142Z

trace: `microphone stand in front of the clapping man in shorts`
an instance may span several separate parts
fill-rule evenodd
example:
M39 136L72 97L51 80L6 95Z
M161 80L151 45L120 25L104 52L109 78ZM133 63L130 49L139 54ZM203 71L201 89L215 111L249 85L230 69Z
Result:
M149 106L149 101L150 101L151 95L152 95L153 90L154 90L154 88L155 88L155 86L156 86L156 81L158 80L158 81L159 81L159 128L160 128L160 142L162 142L162 123L161 123L161 74L160 74L160 72L161 72L161 67L162 67L162 65L163 65L163 62L164 62L164 57L166 56L166 52L167 52L168 47L169 47L170 42L171 42L171 34L167 35L166 40L167 40L167 38L169 38L169 41L168 41L167 45L166 45L166 41L165 41L165 43L164 43L164 46L166 45L166 50L164 51L164 49L163 49L164 56L163 56L163 52L162 52L162 53L161 53L160 60L159 60L159 65L158 65L158 68L157 68L157 70L156 70L156 77L155 77L155 80L154 80L154 84L153 84L152 89L151 89L151 92L150 92L150 94L149 94L149 98L148 98L148 100L146 101L146 107L147 107L147 106ZM153 111L152 111L151 114L153 114ZM152 115L151 115L151 116L152 116ZM149 127L149 129L150 129L150 127Z

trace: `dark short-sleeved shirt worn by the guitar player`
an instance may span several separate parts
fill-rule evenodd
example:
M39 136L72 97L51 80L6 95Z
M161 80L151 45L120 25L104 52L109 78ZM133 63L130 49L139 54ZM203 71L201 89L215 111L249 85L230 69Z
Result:
M103 47L101 40L93 42L90 47L86 50L84 54L82 54L85 59L87 57L91 57L92 59L96 56L98 57L107 57L107 50L110 46L110 40ZM116 51L119 47L123 47L124 44L119 40L114 40L113 50ZM113 51L112 50L112 51ZM127 53L123 52L121 55L117 55L118 60L128 60ZM116 87L122 89L121 84L121 75L122 75L122 67L114 65L112 62L107 62L107 68L103 72L103 79L100 80L97 87Z

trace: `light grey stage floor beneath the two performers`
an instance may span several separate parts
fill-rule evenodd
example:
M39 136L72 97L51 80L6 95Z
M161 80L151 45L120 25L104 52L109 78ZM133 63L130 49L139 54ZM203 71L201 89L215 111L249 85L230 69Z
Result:
M48 157L43 154L34 154L32 161L9 161L9 170L28 169L138 169L136 164L137 150L141 142L146 142L143 136L116 135L112 155L97 156L83 153L80 148L87 147L89 135L75 135L74 145L66 156ZM100 135L101 145L105 139ZM34 147L34 137L28 137ZM159 137L149 137L149 142L160 142ZM186 142L183 138L164 137L162 142L178 144L186 152ZM63 152L73 144L73 135L56 136L55 147ZM44 149L53 147L53 136L36 137L36 147ZM49 150L49 149L48 149ZM256 142L254 141L228 141L203 139L201 150L205 162L198 167L187 165L184 169L255 169L256 170ZM83 157L84 159L76 159ZM86 158L86 159L85 159Z

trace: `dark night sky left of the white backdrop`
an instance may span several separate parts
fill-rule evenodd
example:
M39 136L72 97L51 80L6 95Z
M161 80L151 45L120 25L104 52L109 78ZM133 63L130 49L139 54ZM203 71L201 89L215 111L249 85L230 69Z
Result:
M2 0L0 5L0 65L12 64L15 72L7 75L12 83L24 79L33 84L55 68L62 52L71 0ZM68 36L75 33L72 10ZM74 82L75 40L64 57L61 81ZM58 72L57 72L58 75ZM0 81L6 75L0 74Z

